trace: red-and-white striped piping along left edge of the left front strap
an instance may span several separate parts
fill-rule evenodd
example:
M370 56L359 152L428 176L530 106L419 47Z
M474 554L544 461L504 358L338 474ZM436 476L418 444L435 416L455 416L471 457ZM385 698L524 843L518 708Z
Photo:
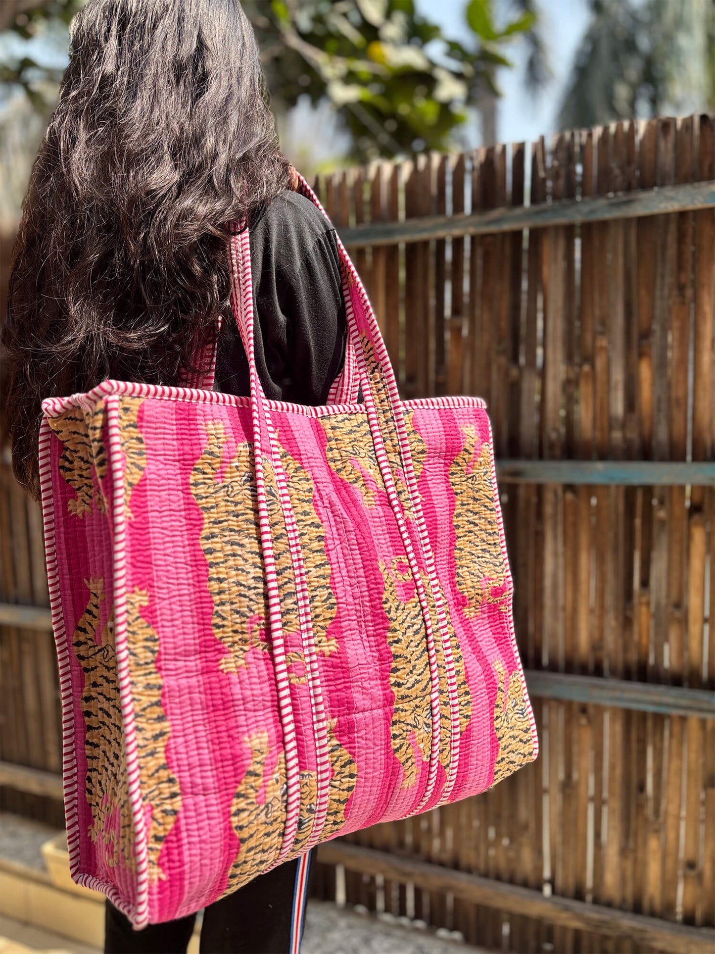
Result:
M278 711L283 728L283 749L286 763L287 804L286 820L283 830L283 840L278 852L277 861L282 861L293 847L296 840L298 819L300 815L300 778L296 744L296 723L291 704L291 687L288 680L286 665L285 641L283 639L283 625L280 615L280 592L276 572L276 558L273 550L271 524L268 517L268 502L266 500L265 477L263 473L263 434L262 425L267 425L268 412L261 403L261 385L255 369L254 347L254 301L253 285L251 282L251 250L248 232L234 236L231 242L232 253L232 282L231 297L235 320L243 339L251 374L251 410L254 422L254 461L255 485L258 505L258 524L260 529L261 546L263 549L263 567L266 575L266 589L268 591L268 612L271 622L271 643L273 648L274 666L276 669L276 690L278 695Z

